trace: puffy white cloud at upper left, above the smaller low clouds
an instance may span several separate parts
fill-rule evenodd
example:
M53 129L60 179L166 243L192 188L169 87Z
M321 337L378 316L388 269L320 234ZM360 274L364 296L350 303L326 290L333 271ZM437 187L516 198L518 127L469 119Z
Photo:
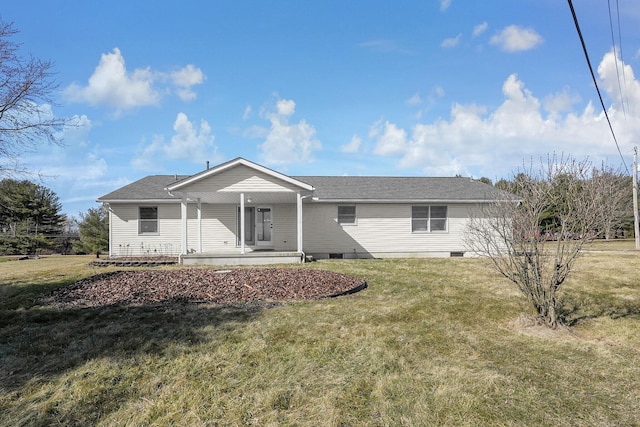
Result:
M98 66L86 86L72 83L64 90L70 102L113 108L116 115L123 111L160 103L161 93L170 88L158 88L159 82L168 81L183 101L196 98L192 87L204 81L202 70L187 65L172 73L152 71L150 67L127 71L125 60L117 47L102 54Z

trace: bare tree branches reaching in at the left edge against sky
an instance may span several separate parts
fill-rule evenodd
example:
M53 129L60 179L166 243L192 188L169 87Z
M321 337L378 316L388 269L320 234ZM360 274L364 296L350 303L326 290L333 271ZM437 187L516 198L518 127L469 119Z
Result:
M50 61L18 54L18 30L0 20L0 175L24 173L20 156L42 143L60 143L67 120L51 112L58 88Z

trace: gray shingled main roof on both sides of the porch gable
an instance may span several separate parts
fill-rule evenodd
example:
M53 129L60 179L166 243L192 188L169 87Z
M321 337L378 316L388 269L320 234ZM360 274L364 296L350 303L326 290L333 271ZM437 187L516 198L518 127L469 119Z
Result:
M98 199L109 201L178 200L165 188L182 175L151 175L125 185ZM319 200L375 201L480 201L503 194L496 188L470 178L381 177L381 176L293 176L315 188Z

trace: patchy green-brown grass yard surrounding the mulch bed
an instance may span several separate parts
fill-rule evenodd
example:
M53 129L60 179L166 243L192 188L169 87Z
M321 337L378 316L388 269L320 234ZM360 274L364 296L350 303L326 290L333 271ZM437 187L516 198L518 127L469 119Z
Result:
M640 253L585 254L555 331L459 258L307 264L369 288L269 309L38 303L89 261L0 263L0 425L640 425Z

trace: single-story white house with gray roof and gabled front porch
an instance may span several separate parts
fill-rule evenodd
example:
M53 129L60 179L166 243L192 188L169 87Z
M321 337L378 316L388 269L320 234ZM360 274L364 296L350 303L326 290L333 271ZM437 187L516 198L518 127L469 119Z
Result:
M288 176L237 158L147 176L98 202L109 209L110 257L260 264L472 255L467 220L498 193L463 177Z

